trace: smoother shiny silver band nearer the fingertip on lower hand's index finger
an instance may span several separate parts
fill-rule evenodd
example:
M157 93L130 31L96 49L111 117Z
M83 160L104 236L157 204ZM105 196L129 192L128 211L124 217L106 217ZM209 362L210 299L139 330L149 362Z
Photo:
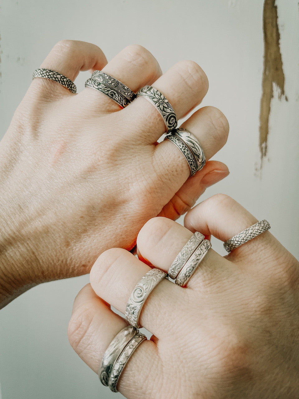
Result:
M98 377L103 385L108 387L109 378L120 354L126 348L128 343L138 334L137 328L133 326L127 326L120 330L120 332L114 337L110 345L104 353L102 363L98 369Z

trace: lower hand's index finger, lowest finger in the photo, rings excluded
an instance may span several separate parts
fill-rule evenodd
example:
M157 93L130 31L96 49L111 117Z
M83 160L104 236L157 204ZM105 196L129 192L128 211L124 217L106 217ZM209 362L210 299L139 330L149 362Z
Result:
M110 342L128 323L112 312L87 284L76 296L69 322L69 342L75 352L95 372ZM147 389L147 373L159 369L159 357L153 341L143 342L129 359L118 381L118 390L126 397ZM108 389L108 388L107 388Z

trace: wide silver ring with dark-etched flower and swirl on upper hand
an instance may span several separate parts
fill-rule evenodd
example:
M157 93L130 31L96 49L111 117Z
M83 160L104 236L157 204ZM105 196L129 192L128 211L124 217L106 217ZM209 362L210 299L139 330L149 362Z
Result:
M159 90L152 86L144 86L138 91L137 96L146 98L159 111L165 122L167 132L177 127L177 116L175 115L174 109Z

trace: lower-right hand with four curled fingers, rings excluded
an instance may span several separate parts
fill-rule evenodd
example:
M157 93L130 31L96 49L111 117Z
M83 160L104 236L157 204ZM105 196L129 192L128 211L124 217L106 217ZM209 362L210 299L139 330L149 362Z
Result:
M226 241L256 222L218 194L187 213L189 230L169 219L149 220L138 251L166 272L191 231ZM110 249L77 295L69 340L95 372L126 326L109 304L124 313L149 269L124 249ZM298 277L297 260L269 231L226 257L210 249L187 288L164 279L149 295L139 320L154 335L128 361L119 391L130 399L298 398Z

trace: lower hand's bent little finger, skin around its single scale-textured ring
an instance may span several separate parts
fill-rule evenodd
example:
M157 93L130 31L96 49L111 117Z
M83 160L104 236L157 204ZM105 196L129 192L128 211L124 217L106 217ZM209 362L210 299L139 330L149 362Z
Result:
M199 230L225 242L257 221L234 199L225 194L216 194L191 209L185 216L184 224L191 231ZM249 251L255 253L261 247L273 243L273 240L271 233L265 231L234 249L231 254L235 256Z

